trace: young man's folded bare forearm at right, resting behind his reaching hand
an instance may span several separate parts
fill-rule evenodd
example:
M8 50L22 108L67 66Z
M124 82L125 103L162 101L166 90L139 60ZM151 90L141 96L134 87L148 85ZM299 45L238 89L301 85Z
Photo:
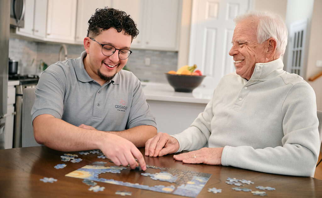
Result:
M141 125L124 131L107 131L131 141L136 147L144 147L148 139L157 134L154 126Z

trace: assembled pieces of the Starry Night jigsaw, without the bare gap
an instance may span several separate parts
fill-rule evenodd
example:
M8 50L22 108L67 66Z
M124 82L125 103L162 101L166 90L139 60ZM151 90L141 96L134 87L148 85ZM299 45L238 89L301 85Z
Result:
M97 153L97 152L93 152ZM98 153L99 154L99 153ZM128 170L128 171L137 171L140 176L149 176L152 180L159 180L164 182L171 182L173 185L144 185L138 183L130 183L126 181L118 181L114 179L107 179L99 177L100 174L111 173L118 174L121 171L127 170L126 167L121 166L105 166L107 162L94 162L90 165L81 167L75 171L68 173L65 176L81 178L83 180L89 180L91 182L103 182L108 184L122 185L132 188L139 188L144 190L151 190L161 193L175 194L188 197L196 197L204 185L209 180L211 174L200 173L188 170L180 170L173 168L160 168L160 167L151 167L155 171L159 169L159 173L148 173L148 171L143 172L141 169ZM149 166L147 166L149 167ZM162 170L162 171L161 171ZM142 173L142 175L141 175ZM113 177L110 175L110 177ZM83 181L84 182L84 181ZM148 184L148 183L147 183ZM98 188L96 186L91 186L91 189ZM95 192L95 191L94 191Z

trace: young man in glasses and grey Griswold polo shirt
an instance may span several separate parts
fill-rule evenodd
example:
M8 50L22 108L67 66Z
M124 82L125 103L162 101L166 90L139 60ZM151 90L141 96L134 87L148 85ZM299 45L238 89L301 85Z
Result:
M32 109L35 140L56 150L100 149L131 168L136 147L156 135L155 118L140 81L122 70L138 34L125 12L97 9L89 20L81 57L57 62L40 76Z

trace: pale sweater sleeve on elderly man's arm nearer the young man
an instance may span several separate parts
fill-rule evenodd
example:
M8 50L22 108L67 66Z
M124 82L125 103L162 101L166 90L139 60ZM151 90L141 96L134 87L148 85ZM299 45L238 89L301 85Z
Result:
M179 150L197 150L208 147L213 118L213 99L209 101L203 113L200 113L191 126L183 132L171 135L179 142Z

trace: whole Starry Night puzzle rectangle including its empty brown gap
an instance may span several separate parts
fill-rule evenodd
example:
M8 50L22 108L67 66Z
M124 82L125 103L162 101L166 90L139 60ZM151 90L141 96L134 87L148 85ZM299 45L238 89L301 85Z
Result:
M142 171L140 167L131 170L129 167L105 166L106 164L107 162L94 162L65 176L187 197L198 196L211 176L207 173L149 165L146 171ZM146 177L150 179L146 180Z

